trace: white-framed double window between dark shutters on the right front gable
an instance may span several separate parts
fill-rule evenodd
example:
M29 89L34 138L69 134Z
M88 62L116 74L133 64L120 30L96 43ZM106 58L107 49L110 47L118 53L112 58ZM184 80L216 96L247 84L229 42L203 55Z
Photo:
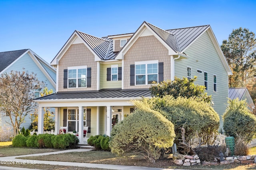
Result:
M158 82L158 62L151 61L148 63L135 63L136 85L152 84L153 81Z

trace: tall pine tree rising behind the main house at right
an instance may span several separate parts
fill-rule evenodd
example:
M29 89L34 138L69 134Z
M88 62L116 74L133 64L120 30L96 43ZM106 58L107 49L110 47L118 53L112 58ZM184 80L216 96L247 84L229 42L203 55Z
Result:
M233 75L229 76L230 87L248 87L255 84L256 76L256 38L249 29L233 29L228 40L222 41L221 49ZM255 85L254 85L255 86Z

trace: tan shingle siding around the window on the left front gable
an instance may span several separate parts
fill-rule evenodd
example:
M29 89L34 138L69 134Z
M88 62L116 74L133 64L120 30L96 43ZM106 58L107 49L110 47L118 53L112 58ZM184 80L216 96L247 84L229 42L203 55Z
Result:
M63 88L64 69L69 66L87 66L92 68L91 88ZM83 90L97 90L97 62L94 61L94 55L84 44L73 44L59 61L59 92L72 92Z

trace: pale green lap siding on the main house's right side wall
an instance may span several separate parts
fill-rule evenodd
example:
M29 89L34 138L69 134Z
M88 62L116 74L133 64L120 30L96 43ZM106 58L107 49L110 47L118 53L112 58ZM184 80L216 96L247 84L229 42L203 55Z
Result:
M208 72L208 95L212 95L214 110L220 115L220 127L222 127L222 115L226 109L228 98L228 73L226 72L220 57L205 32L200 36L185 53L189 59L175 60L175 76L182 78L187 73L187 66L192 68L192 78L197 76L196 83L204 85L204 72ZM202 74L197 73L202 70ZM213 75L217 76L217 92L214 92Z

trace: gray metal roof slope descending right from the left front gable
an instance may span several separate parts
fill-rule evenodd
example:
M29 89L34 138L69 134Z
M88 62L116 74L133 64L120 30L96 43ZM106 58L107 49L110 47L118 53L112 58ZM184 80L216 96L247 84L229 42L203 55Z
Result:
M78 35L89 45L89 47L102 60L115 59L116 53L113 51L113 40L109 38L98 38L80 31L76 31Z

